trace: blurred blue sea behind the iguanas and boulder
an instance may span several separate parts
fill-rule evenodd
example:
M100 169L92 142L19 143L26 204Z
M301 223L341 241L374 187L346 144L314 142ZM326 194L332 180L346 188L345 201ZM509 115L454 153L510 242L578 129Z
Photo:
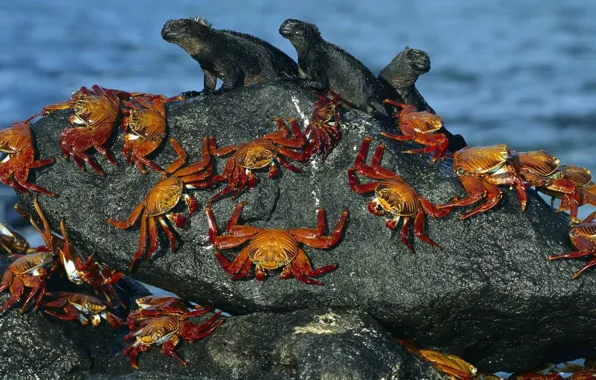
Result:
M432 69L418 88L470 145L544 148L596 171L596 2L588 0L4 0L0 126L82 85L166 95L201 89L199 65L160 36L166 20L190 16L294 58L279 25L314 22L375 74L406 45L423 49ZM13 190L0 186L0 221L16 222Z

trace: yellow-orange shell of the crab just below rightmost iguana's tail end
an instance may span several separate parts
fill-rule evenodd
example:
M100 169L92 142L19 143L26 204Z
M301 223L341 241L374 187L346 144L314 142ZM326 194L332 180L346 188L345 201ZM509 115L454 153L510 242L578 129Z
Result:
M508 158L506 144L463 148L453 155L453 171L460 177L494 174L505 165Z

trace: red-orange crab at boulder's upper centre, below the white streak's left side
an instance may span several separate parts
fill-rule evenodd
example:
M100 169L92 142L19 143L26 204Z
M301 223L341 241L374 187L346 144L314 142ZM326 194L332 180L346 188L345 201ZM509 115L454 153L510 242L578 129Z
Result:
M259 139L247 141L241 145L231 145L223 148L216 148L215 137L211 137L209 150L211 154L221 157L234 152L228 157L223 173L213 177L214 182L227 181L228 185L219 193L211 197L210 202L224 197L235 191L234 197L248 186L253 188L257 185L257 177L253 170L269 166L269 178L275 178L278 174L276 161L287 169L301 173L302 169L291 164L287 159L301 161L303 153L294 149L301 149L306 144L306 139L300 125L295 119L290 119L292 131L279 118L275 119L279 131L269 133ZM294 134L292 136L291 134Z

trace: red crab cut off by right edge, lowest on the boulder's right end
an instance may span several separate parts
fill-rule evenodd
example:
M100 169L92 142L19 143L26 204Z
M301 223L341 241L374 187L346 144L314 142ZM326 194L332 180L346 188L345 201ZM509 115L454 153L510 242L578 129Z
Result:
M588 215L581 224L573 226L569 230L569 238L576 251L563 255L549 256L548 260L575 259L577 257L591 255L596 256L596 223L594 223L594 219L596 219L596 211ZM591 268L594 265L596 265L596 258L591 259L583 266L583 268L575 272L573 278L576 278L586 269Z

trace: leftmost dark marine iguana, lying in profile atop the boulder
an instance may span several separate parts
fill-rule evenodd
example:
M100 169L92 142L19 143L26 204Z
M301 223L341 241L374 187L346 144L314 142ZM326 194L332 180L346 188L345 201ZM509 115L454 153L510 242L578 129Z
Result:
M221 90L229 91L297 75L296 62L281 50L249 34L214 29L204 18L169 20L161 36L199 62L207 92L215 91L217 78Z

